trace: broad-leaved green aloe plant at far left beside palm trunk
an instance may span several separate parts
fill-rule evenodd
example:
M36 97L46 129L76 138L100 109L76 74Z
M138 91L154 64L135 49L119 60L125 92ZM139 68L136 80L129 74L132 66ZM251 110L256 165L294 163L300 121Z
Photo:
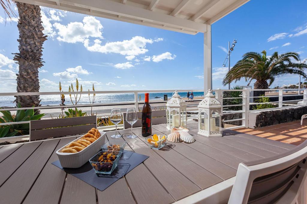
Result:
M20 103L17 104L17 108L21 108ZM0 138L2 137L12 137L17 135L29 135L29 123L24 124L13 124L13 125L1 125L1 123L9 122L22 122L22 121L34 121L39 120L45 114L37 114L34 109L27 110L17 110L16 115L11 114L8 110L0 111L3 116L0 117Z

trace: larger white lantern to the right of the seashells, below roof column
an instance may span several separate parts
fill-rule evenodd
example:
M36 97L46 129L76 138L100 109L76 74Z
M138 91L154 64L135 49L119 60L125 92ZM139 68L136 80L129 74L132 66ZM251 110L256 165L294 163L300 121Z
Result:
M223 108L221 103L209 89L205 98L199 103L198 107L198 134L207 137L221 137L221 115Z

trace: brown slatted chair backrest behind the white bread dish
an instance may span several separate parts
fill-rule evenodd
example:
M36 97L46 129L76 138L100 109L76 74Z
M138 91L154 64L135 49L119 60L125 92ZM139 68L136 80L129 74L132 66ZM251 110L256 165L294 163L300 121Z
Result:
M97 128L97 116L37 120L30 122L30 141L81 135Z

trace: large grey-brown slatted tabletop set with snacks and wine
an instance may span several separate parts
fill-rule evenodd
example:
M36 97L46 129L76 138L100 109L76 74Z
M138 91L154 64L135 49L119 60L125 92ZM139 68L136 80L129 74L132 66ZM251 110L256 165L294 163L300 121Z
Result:
M153 126L153 134L169 134L165 127ZM134 128L138 138L123 137L125 149L150 157L104 191L51 164L58 160L56 150L76 137L0 146L1 203L172 203L234 177L240 162L295 147L229 130L208 138L197 135L197 127L188 122L196 142L168 142L163 150L150 149L141 129Z

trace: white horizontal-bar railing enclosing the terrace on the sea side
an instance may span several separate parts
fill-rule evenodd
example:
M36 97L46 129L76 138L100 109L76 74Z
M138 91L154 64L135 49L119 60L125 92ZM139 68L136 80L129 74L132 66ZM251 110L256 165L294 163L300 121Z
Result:
M283 107L283 104L285 102L298 102L298 101L302 101L301 105L306 105L307 104L307 90L303 89L303 99L297 99L297 100L283 100L283 96L298 96L297 94L290 94L290 95L285 95L284 92L288 92L288 91L297 91L298 89L243 89L243 90L228 90L228 89L216 89L213 90L215 91L215 95L216 98L221 102L223 109L229 108L229 107L235 107L235 106L242 106L242 109L240 110L229 110L229 112L225 112L224 111L224 115L227 114L233 114L233 113L242 113L242 118L238 118L238 119L232 119L232 120L224 120L224 122L233 122L233 121L242 121L242 125L240 126L235 126L233 128L240 128L240 127L248 127L248 115L250 112L254 112L254 111L259 111L259 110L250 110L250 105L258 105L258 104L266 104L266 103L273 103L273 104L278 104L278 107L275 108L270 108L270 109L279 109ZM138 94L140 93L172 93L174 90L149 90L149 91L144 91L144 90L138 90L138 91L78 91L78 92L23 92L23 93L0 93L0 100L1 100L1 96L16 96L16 95L60 95L64 94L64 95L69 95L69 94L93 94L95 93L97 94L116 94L116 93L132 93L134 94L134 100L131 101L126 101L126 102L109 102L109 103L94 103L94 104L77 104L77 105L65 105L65 106L40 106L40 107L34 107L34 109L55 109L58 112L57 113L61 113L60 109L61 108L74 108L74 107L99 107L99 106L122 106L122 105L131 105L134 106L137 110L140 109L139 104L144 103L144 101L140 101L138 100ZM187 92L187 91L193 91L193 92L201 92L202 90L177 90L178 92ZM230 91L242 91L242 95L240 95L239 97L224 97L224 92L230 92ZM273 92L278 92L278 95L267 95L267 96L253 96L253 91L273 91ZM183 96L184 97L184 96ZM277 98L278 97L278 101L276 102L251 102L254 100L251 100L251 98L261 98L261 97L268 97L268 98ZM200 97L198 99L193 99L192 101L198 102L200 100L202 100L203 97ZM225 99L242 99L242 104L230 104L230 105L225 105L223 104L223 100ZM191 101L191 100L189 100ZM165 103L166 101L163 100L152 100L151 101L152 104L161 104L162 106L158 106L158 109L160 107L165 107ZM295 106L301 106L301 105L291 105L291 107L295 107ZM16 110L22 110L22 109L33 109L33 107L30 108L16 108L16 107L12 107L12 108L3 108L1 110L8 110L8 111L16 111ZM153 106L154 109L154 106ZM188 103L188 107L187 107L188 111L193 111L193 110L197 110L197 104L189 104ZM261 109L261 110L268 110L268 109ZM125 110L123 110L125 111ZM93 111L95 112L95 110ZM99 113L97 114L98 117L106 117L109 115L109 112L105 112L105 113ZM193 119L196 117L188 117L189 119ZM22 122L22 123L26 123L26 122ZM6 124L19 124L19 123L6 123ZM0 124L0 125L5 125L4 123ZM106 128L106 127L103 127ZM107 128L110 128L109 126ZM232 129L232 128L230 128Z

